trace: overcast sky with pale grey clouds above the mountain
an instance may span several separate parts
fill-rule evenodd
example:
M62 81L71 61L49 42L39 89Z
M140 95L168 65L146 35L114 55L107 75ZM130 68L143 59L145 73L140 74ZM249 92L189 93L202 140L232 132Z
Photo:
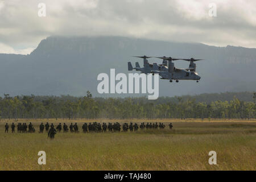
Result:
M46 4L46 17L38 16L39 3ZM216 17L209 16L210 3ZM0 53L30 53L51 35L256 47L256 1L0 0Z

